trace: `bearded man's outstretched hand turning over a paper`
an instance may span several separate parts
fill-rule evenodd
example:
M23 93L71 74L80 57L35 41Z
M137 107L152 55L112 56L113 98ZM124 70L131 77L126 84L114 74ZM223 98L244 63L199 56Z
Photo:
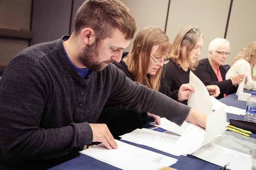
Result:
M192 108L190 109L186 120L202 128L205 128L206 126L206 115L204 113L195 111Z

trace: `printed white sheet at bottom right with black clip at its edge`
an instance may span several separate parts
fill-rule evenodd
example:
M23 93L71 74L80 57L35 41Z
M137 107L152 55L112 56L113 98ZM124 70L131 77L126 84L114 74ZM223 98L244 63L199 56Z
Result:
M207 144L192 154L200 159L217 164L221 167L230 163L230 170L250 170L250 155L222 147L218 144Z

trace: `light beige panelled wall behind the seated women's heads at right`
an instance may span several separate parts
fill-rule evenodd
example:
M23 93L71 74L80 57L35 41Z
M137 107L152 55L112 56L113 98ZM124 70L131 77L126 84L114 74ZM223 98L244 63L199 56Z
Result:
M169 0L122 0L137 21L138 30L158 26L164 30ZM224 38L231 0L170 0L166 34L173 41L183 26L194 25L204 34L204 46L199 59L208 57L208 45L217 37ZM230 64L234 55L247 43L256 40L256 0L233 0L227 29L231 55L225 64ZM129 50L130 46L127 48Z

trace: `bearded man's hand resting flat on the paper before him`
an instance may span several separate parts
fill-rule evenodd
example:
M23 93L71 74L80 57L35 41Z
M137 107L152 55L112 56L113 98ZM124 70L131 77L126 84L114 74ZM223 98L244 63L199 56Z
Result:
M108 149L117 149L118 145L106 124L89 123L93 131L93 142L102 142Z

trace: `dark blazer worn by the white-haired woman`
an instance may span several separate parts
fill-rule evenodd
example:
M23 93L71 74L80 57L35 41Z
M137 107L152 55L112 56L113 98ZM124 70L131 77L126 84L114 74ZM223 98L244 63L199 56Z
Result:
M218 97L216 97L217 99L224 97L224 94L228 95L235 93L237 90L237 87L232 85L231 79L225 79L226 70L224 69L224 67L221 65L219 66L219 69L221 71L221 77L223 79L222 82L218 81L218 77L216 76L214 70L212 69L212 66L210 65L208 58L201 59L196 70L193 71L195 75L199 79L201 79L204 85L218 85L221 94Z

